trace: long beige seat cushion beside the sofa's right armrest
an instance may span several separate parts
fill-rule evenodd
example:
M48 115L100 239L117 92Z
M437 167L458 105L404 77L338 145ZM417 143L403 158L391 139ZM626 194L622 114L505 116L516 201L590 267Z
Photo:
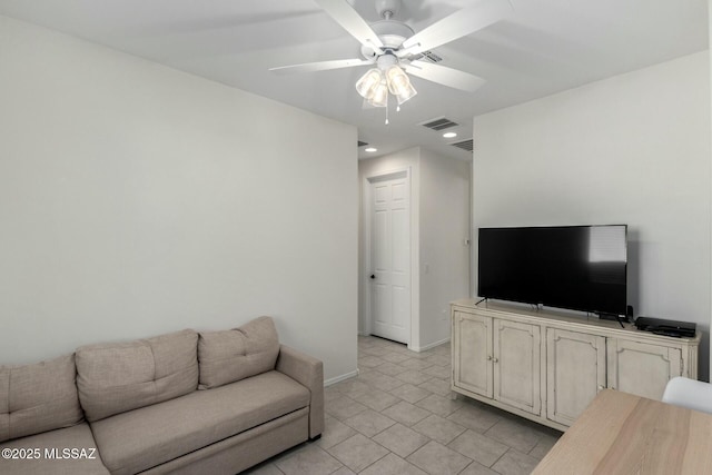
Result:
M135 474L307 407L309 390L276 372L91 423L111 474ZM305 434L305 438L308 434Z

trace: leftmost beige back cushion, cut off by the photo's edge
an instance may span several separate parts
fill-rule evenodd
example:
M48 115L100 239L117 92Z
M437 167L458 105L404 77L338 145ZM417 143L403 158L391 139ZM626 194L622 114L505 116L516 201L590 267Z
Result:
M80 423L76 378L75 355L0 366L0 442Z

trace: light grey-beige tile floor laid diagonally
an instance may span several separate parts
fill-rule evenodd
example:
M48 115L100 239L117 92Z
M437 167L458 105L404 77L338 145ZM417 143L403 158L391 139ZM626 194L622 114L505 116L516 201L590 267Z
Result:
M358 338L358 377L326 388L326 429L251 475L528 474L561 433L451 398L449 345Z

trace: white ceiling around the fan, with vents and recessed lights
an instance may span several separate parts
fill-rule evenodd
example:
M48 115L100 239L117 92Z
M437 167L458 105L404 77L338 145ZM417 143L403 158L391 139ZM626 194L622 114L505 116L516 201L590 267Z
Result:
M378 20L374 0L352 0ZM469 0L404 0L415 31ZM359 44L312 0L0 0L29 21L358 127L375 156L423 146L466 159L419 123L447 117L472 137L472 118L708 49L705 0L511 0L511 18L434 50L441 65L487 80L474 93L412 78L400 112L365 109L354 83L366 67L278 76L276 66L359 57ZM359 149L359 157L367 154Z

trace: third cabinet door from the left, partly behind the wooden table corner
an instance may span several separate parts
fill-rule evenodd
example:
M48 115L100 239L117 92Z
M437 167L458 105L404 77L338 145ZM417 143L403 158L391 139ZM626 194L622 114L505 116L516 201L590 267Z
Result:
M572 425L605 387L605 337L546 330L546 417Z

